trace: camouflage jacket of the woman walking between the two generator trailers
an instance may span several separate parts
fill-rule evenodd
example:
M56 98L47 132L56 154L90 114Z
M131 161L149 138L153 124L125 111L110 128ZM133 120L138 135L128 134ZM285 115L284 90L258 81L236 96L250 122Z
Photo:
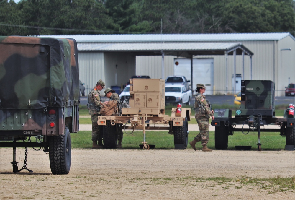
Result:
M195 117L207 117L213 116L212 110L210 108L210 103L206 100L206 96L198 93L194 101Z

